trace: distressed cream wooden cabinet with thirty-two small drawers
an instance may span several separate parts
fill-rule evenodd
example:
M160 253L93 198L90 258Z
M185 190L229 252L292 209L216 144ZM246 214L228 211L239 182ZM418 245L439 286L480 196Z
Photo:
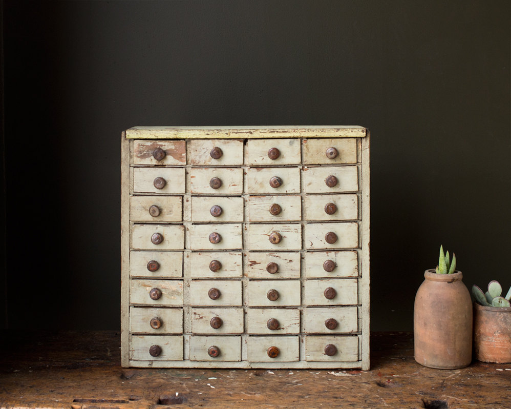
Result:
M122 365L369 369L369 132L122 134Z

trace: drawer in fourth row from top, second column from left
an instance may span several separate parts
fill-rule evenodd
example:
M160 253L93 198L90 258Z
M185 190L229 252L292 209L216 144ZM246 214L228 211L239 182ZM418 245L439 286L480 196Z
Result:
M241 249L241 224L192 224L189 247L191 250Z

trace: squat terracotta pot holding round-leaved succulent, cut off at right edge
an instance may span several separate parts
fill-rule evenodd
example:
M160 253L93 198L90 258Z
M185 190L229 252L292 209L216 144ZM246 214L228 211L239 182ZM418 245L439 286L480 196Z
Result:
M474 303L474 355L483 362L511 363L511 307Z

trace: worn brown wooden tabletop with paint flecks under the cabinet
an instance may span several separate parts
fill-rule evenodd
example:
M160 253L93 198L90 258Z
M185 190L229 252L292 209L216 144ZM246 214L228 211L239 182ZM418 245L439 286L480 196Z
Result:
M511 364L429 369L410 333L372 334L368 372L122 369L119 348L118 332L0 332L0 408L511 405Z

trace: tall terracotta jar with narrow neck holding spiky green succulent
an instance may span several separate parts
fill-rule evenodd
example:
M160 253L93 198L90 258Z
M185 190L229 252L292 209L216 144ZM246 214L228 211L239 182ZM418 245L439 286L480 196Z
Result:
M424 272L413 313L415 360L438 369L458 369L472 360L472 299L463 274Z

